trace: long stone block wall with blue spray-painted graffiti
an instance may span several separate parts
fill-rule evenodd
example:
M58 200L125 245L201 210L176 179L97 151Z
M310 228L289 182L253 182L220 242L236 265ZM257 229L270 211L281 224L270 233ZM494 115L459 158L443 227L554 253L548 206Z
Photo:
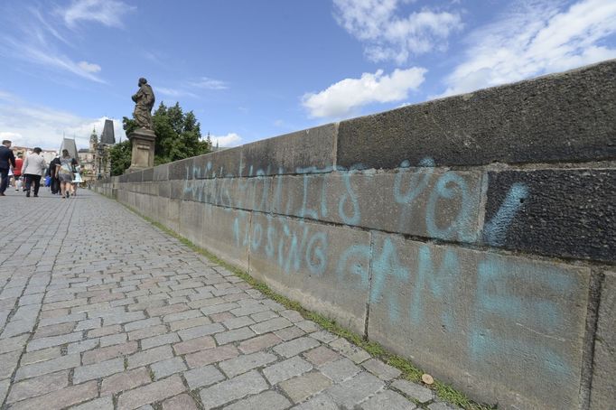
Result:
M616 61L98 191L499 408L616 402Z

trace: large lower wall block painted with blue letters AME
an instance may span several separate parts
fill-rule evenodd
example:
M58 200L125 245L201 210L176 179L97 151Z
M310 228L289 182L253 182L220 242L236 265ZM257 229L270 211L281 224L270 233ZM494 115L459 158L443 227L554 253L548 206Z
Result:
M577 403L588 268L373 241L369 339L483 402Z

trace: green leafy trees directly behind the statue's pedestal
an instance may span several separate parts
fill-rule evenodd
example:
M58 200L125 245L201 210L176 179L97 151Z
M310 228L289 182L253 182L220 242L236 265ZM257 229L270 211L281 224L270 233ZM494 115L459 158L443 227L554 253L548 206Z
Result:
M156 134L154 165L171 163L210 152L210 144L201 141L201 126L197 117L192 111L184 113L180 103L176 102L173 107L167 107L161 103L154 111L152 122L154 134ZM122 119L122 126L126 135L138 128L135 119L126 116ZM131 145L129 141L125 143L127 149L118 147L114 150L117 157L111 156L112 175L120 175L130 166ZM119 144L114 145L112 149L117 145ZM119 171L120 167L124 168Z

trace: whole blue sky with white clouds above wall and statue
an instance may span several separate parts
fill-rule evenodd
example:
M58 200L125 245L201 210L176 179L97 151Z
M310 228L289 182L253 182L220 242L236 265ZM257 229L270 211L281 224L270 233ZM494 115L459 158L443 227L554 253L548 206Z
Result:
M0 138L124 139L142 76L232 146L613 58L614 0L3 0Z

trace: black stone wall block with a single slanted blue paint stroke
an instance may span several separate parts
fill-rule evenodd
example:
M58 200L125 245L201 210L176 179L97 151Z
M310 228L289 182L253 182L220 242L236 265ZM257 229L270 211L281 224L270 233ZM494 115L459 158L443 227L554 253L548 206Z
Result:
M616 261L616 169L489 172L484 241L528 253Z

